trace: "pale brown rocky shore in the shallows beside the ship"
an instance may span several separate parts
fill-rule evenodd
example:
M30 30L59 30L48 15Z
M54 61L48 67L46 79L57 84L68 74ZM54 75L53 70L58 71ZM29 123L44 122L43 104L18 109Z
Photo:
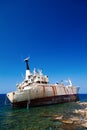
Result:
M60 127L56 127L55 130L75 130L74 128L87 129L87 102L77 102L81 109L75 109L72 113L66 117L62 114L46 115L43 117L49 117L50 121L60 122Z

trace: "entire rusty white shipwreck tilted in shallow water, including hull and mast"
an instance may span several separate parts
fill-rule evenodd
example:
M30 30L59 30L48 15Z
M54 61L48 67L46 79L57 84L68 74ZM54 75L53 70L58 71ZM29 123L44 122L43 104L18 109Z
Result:
M26 63L25 79L17 85L16 91L7 93L13 107L40 106L78 100L79 87L73 86L70 79L67 86L63 82L50 84L48 76L43 75L42 70L37 72L34 68L33 73L30 72L29 58L24 61Z

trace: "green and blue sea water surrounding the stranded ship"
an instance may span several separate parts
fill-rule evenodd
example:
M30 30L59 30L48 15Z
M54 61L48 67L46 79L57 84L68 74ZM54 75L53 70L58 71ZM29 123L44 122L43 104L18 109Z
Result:
M87 94L79 97L80 101L87 101ZM6 95L0 94L0 130L86 130L79 125L52 120L54 115L63 115L66 119L74 116L75 109L80 109L75 102L12 109Z

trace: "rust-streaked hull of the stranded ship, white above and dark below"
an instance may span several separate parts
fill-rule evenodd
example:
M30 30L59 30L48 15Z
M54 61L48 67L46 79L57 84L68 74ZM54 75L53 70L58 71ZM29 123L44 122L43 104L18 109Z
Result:
M60 84L39 85L34 83L29 89L11 92L7 96L12 107L26 107L27 104L31 107L43 106L79 100L78 88L60 86Z

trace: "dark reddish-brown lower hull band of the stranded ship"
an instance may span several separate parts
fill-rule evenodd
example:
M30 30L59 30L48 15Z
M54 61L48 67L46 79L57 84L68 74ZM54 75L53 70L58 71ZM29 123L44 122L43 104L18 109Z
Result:
M72 102L72 101L78 101L78 100L79 100L78 94L60 95L60 96L37 98L30 101L15 102L15 103L12 103L12 106L13 108L26 107L29 104L30 107L33 107L33 106L58 104L58 103L64 103L64 102Z

